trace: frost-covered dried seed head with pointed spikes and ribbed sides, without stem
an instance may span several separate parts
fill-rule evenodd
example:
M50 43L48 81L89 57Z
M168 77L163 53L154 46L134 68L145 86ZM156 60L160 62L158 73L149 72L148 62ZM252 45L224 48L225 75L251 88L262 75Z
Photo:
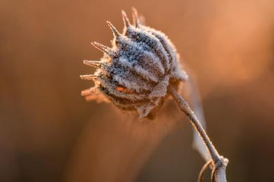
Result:
M110 100L122 110L138 111L140 118L152 119L167 87L177 87L187 75L179 67L175 46L164 33L145 26L135 9L134 25L125 12L122 15L123 33L107 22L114 34L112 48L92 43L104 55L100 61L84 61L97 71L81 76L95 82L95 87L82 91L82 95L86 100Z

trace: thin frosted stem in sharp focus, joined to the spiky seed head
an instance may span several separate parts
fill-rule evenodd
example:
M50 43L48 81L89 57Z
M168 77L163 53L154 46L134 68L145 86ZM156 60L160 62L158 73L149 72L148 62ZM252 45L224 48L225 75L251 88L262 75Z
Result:
M181 97L173 87L169 86L169 91L175 102L178 104L180 110L182 110L182 112L186 114L188 119L190 119L190 123L193 125L193 127L195 127L195 130L197 130L197 132L201 136L203 143L206 145L210 156L212 157L212 163L214 164L214 168L212 170L212 181L225 182L225 169L228 160L219 155L218 151L216 151L214 145L210 141L210 138L206 134L206 131L203 130L201 123L197 119L195 113L191 110L186 100L184 100L184 98Z

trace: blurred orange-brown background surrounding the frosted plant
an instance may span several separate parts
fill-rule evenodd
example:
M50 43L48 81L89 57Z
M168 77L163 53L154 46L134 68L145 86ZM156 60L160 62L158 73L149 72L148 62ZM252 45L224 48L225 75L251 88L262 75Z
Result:
M83 60L102 55L90 42L110 46L105 21L122 30L132 6L197 79L228 180L273 181L271 0L1 0L0 181L197 180L204 162L173 102L148 124L80 95L93 85Z

